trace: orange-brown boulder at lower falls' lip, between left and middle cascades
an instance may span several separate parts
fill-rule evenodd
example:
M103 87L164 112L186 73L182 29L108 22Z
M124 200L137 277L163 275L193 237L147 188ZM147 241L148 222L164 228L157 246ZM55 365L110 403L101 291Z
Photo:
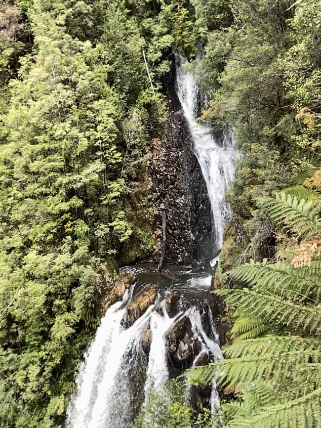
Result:
M127 310L124 319L124 326L130 327L140 318L143 313L155 303L157 296L156 285L151 284L143 288L134 299L127 305Z

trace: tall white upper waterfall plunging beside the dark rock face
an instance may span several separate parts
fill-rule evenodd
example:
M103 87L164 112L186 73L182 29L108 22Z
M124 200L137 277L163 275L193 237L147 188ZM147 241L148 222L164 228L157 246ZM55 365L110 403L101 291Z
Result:
M183 57L177 55L176 61L176 90L194 141L194 153L206 182L214 220L215 246L218 251L222 247L224 227L230 216L224 197L228 184L235 175L236 150L233 132L223 133L220 141L212 136L208 125L198 122L200 91L196 79L193 73L187 70Z

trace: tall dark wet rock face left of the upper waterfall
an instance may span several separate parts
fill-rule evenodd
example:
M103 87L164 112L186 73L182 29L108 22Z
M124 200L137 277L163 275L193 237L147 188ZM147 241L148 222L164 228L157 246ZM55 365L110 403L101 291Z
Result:
M213 256L213 220L201 167L173 85L168 90L170 117L152 140L148 162L158 211L158 259L162 212L166 213L165 262L204 265Z

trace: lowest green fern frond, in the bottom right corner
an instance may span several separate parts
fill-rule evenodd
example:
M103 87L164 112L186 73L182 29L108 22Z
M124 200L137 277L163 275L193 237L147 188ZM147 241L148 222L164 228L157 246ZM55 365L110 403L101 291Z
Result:
M284 404L232 419L226 428L321 428L321 388Z

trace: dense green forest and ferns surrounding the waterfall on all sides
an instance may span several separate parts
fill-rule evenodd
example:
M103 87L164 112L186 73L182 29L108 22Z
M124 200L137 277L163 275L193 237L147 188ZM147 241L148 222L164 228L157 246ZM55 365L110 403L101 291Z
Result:
M0 47L0 427L64 426L102 287L157 251L173 49L241 154L214 281L225 358L186 382L215 380L226 427L320 427L320 0L2 1ZM133 426L221 424L166 387Z

